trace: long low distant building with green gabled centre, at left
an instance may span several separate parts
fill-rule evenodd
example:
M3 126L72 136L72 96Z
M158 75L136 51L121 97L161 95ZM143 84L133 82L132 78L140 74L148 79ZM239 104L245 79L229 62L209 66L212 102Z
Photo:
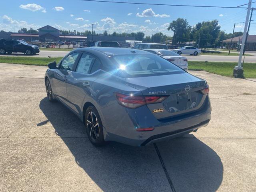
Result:
M134 37L122 37L122 36L102 36L102 35L94 35L94 36L83 36L83 35L64 35L61 34L60 30L46 25L44 27L41 27L38 29L38 33L22 33L19 31L18 33L2 33L0 34L0 38L4 39L23 39L26 41L31 40L40 40L42 42L51 42L51 41L90 41L96 42L96 41L117 41L120 44L124 44L126 40L135 40Z

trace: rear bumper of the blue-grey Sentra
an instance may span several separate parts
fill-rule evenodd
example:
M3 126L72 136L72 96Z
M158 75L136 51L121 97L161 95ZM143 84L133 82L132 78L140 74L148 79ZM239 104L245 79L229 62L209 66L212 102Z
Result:
M112 106L114 108L114 106ZM136 110L125 109L126 114L119 110L111 119L104 118L104 139L131 146L145 146L154 142L168 140L206 126L211 119L211 104L205 100L200 110L182 116L158 120L146 111L147 106ZM116 111L116 110L115 110ZM149 110L148 110L149 111ZM103 113L104 110L102 111ZM106 109L111 114L111 109ZM106 117L106 116L105 116ZM137 131L137 128L154 128L152 131Z

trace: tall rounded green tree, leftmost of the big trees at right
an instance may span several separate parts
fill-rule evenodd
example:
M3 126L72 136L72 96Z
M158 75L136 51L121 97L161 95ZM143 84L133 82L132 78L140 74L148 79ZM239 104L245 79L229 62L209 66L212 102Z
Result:
M191 26L186 19L173 20L167 29L174 32L172 44L180 44L190 40Z

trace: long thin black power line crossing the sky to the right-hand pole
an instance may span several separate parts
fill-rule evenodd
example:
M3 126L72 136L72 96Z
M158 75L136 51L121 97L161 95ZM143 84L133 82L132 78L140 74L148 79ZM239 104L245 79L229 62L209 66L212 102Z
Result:
M179 4L159 4L159 3L136 3L136 2L103 1L103 0L82 0L82 1L103 2L103 3L121 3L121 4L139 4L139 5L181 6L181 7L209 7L209 8L236 8L236 9L246 9L247 8L247 7L226 7L226 6L202 6L202 5L179 5Z

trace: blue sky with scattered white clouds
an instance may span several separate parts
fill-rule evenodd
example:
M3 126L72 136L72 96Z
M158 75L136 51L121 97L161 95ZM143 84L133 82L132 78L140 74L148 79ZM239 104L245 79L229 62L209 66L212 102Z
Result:
M122 2L142 2L159 4L183 4L206 6L238 6L248 0L116 0ZM253 4L256 7L256 3ZM22 27L38 29L50 25L58 29L84 31L91 30L94 23L96 33L144 32L151 36L162 32L172 36L167 28L172 20L184 18L191 26L198 22L219 20L221 30L232 33L243 31L246 9L196 8L179 6L156 6L138 4L114 4L86 2L82 0L8 0L1 1L0 30L18 32ZM249 34L256 34L256 10L252 15Z

